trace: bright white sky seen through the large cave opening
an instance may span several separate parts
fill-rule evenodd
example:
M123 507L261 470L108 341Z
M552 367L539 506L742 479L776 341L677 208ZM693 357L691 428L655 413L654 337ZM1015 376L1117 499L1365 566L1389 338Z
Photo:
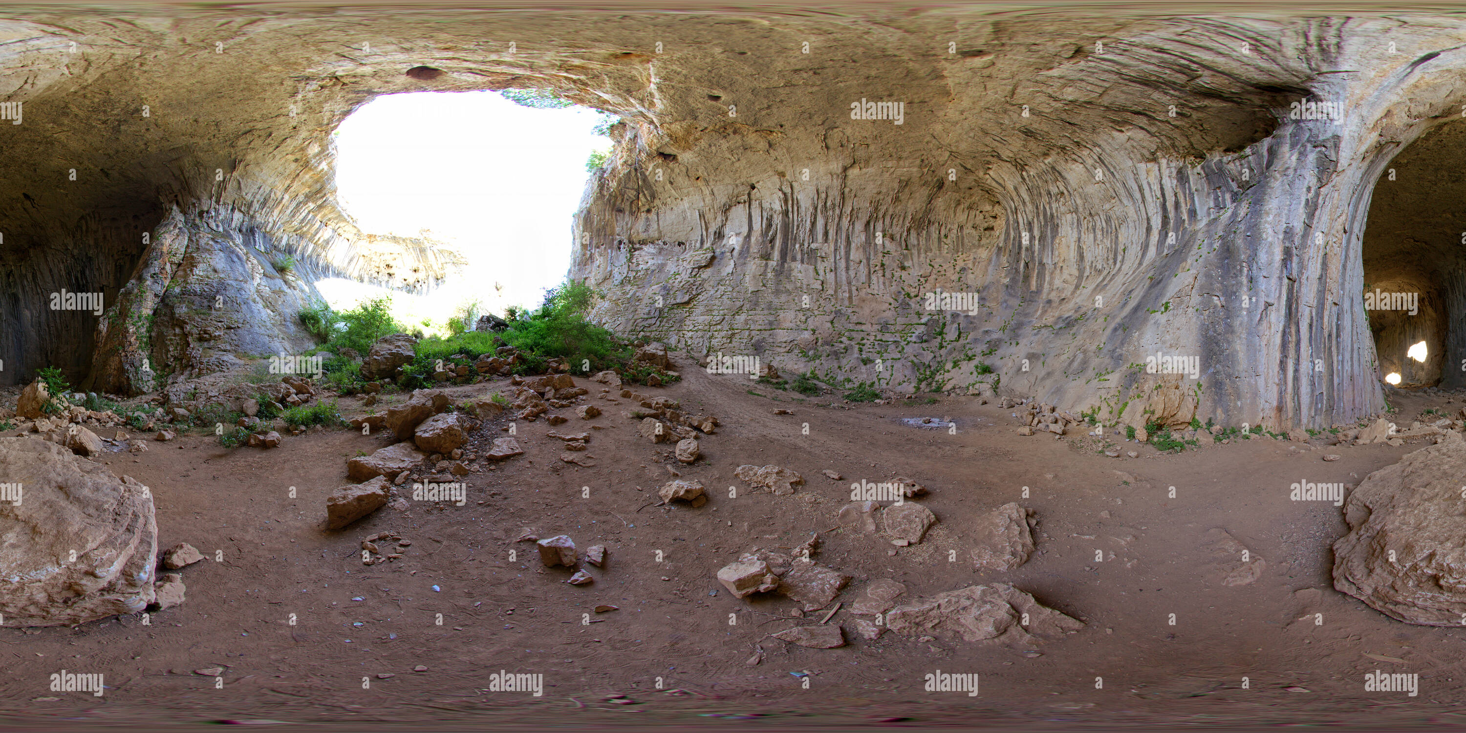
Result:
M570 265L585 160L610 148L592 132L598 119L583 107L537 110L488 91L366 103L334 133L343 208L366 233L427 233L469 264L427 296L342 279L318 281L321 295L345 309L391 293L393 311L409 325L438 324L466 301L497 315L506 305L538 306Z

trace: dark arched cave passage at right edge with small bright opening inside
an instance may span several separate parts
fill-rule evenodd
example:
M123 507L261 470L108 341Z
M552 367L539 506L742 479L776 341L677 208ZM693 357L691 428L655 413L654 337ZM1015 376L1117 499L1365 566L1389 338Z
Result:
M1445 122L1400 151L1375 182L1363 302L1387 384L1466 386L1463 150L1466 120Z

